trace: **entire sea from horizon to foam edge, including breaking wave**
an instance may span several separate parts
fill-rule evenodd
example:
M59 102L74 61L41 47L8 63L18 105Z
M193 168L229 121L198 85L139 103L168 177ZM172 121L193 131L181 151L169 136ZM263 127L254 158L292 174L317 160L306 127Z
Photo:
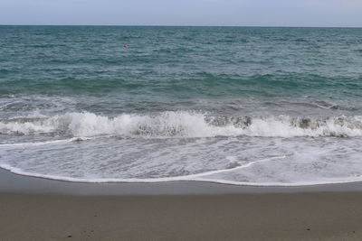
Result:
M362 29L0 26L0 167L84 182L362 181Z

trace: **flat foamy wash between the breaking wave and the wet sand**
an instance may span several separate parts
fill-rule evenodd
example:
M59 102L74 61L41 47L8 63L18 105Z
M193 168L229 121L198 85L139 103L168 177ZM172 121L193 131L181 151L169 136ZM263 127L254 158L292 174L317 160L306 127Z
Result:
M0 145L0 167L61 181L300 186L362 180L362 138L78 138Z

